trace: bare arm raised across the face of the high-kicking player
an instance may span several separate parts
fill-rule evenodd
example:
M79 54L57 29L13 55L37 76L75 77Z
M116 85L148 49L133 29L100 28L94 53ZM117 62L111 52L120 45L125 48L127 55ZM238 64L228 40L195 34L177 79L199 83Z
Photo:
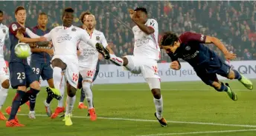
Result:
M132 21L147 35L155 33L155 30L152 27L147 27L145 24L142 24L137 18L137 12L134 10L129 10L129 16L132 18Z

